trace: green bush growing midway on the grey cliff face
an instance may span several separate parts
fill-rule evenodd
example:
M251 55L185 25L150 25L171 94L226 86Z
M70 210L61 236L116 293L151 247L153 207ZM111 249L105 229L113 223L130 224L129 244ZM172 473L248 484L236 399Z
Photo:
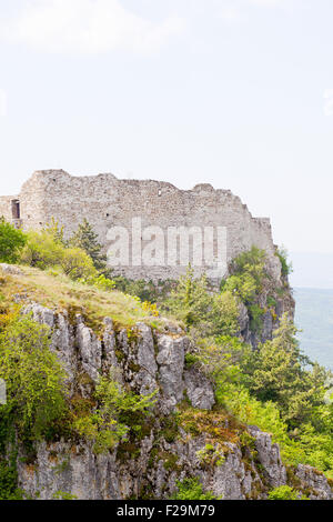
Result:
M130 430L141 430L141 425L133 424L132 420L139 416L143 422L151 414L154 395L135 395L127 392L112 375L110 379L101 377L94 392L98 405L92 412L74 418L74 430L93 442L97 454L105 453L118 442L128 441Z

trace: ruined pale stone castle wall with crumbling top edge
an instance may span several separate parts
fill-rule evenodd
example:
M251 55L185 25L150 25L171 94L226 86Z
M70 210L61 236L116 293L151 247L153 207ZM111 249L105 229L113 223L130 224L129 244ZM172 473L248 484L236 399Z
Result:
M0 201L0 213L1 204L6 207L7 202ZM169 227L225 227L228 261L255 244L266 250L272 272L276 277L280 274L270 220L252 218L240 198L229 190L214 190L210 184L200 184L186 191L167 182L119 180L113 174L77 178L64 171L40 171L24 183L20 211L26 229L40 228L54 218L64 225L67 235L87 218L105 251L111 247L107 235L112 227L124 227L131 239L133 218L141 218L142 228L161 227L165 237ZM145 243L149 242L142 241L143 247ZM196 273L211 268L198 268ZM179 264L167 265L167 258L161 267L118 269L119 273L129 278L149 277L155 280L174 279L184 271L185 267Z

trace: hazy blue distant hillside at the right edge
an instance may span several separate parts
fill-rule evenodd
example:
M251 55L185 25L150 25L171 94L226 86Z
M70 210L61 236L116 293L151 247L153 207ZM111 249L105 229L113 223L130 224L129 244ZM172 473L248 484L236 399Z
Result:
M303 352L333 370L333 290L297 288L294 298Z

